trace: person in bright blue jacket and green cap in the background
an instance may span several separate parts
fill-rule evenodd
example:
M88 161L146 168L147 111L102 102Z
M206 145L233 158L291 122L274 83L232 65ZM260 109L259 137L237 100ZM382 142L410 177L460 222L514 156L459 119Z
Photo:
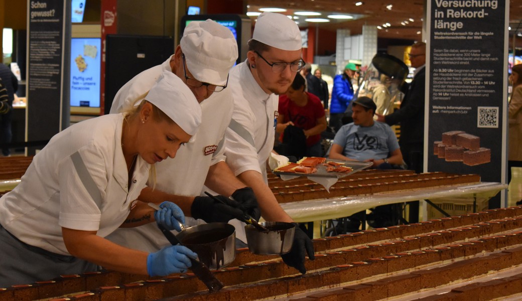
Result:
M352 79L357 74L357 67L353 63L345 66L342 74L334 77L334 88L331 91L330 123L329 126L337 131L342 126L341 118L353 99ZM351 116L351 114L348 114ZM348 121L350 123L352 121Z

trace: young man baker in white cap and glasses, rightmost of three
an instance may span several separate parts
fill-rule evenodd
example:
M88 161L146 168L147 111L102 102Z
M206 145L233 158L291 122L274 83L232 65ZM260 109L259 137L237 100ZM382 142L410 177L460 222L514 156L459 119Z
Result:
M274 146L277 95L288 90L303 68L301 48L301 32L294 21L263 13L248 41L246 61L230 71L234 113L226 134L227 163L234 175L254 189L266 221L293 222L267 185L266 162ZM241 239L238 228L236 235ZM281 257L304 274L306 254L314 259L312 241L296 227L292 249Z

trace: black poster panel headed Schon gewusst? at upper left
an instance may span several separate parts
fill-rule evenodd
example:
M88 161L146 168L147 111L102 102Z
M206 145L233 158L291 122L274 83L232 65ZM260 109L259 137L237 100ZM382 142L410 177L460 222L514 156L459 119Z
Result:
M62 129L64 6L64 0L28 1L29 142L49 140Z

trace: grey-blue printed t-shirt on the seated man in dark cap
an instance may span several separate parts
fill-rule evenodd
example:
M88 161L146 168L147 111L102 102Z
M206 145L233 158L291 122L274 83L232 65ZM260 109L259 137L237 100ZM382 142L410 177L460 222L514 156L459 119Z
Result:
M399 148L392 128L382 122L369 127L343 125L335 134L334 144L342 147L343 155L358 161L385 159Z

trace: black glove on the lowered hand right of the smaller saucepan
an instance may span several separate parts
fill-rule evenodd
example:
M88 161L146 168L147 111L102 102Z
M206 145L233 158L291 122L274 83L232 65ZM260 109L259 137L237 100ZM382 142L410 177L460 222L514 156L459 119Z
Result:
M287 266L299 270L301 274L305 274L305 251L308 254L308 258L310 258L310 260L314 260L314 245L310 237L308 237L308 235L306 235L306 233L304 233L303 230L301 230L299 225L296 223L294 223L294 225L295 233L292 249L287 254L281 255L281 258L283 259L284 263L287 264Z

